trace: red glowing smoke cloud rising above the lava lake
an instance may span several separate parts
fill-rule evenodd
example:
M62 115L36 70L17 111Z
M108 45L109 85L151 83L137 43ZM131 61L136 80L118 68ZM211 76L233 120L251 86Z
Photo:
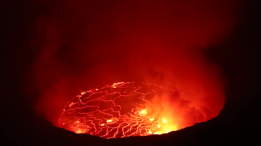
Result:
M208 63L203 50L229 35L236 21L235 3L58 1L35 5L43 10L31 39L39 50L30 65L32 82L26 89L38 93L32 106L54 125L70 99L114 82L149 82L185 92L186 104L203 112L204 120L222 109L220 69ZM167 100L173 104L176 99Z

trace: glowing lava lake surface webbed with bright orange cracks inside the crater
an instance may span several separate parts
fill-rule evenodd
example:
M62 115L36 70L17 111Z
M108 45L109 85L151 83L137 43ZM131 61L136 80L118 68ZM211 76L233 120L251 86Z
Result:
M103 138L164 134L178 130L164 114L168 89L142 82L119 82L76 96L64 107L59 127Z

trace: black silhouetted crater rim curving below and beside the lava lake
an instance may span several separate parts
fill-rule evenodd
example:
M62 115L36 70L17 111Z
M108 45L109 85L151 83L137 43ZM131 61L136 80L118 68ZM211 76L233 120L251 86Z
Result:
M4 93L7 93L2 95L3 139L7 145L212 145L242 142L252 145L257 140L256 129L260 124L257 106L260 95L260 9L260 2L247 4L230 40L206 52L210 59L223 67L227 79L227 100L219 116L168 134L109 140L54 127L26 108L24 101L13 103L25 98L21 98L23 94L17 83L19 70L23 68L22 61L9 57L13 53L12 47L22 46L21 42L14 43L15 40L11 39L11 34L17 32L13 26L20 20L9 19L13 24L9 27L14 29L5 31L9 35L6 36L6 50L2 55L2 59L11 61L4 66L6 71L2 72L1 79Z

